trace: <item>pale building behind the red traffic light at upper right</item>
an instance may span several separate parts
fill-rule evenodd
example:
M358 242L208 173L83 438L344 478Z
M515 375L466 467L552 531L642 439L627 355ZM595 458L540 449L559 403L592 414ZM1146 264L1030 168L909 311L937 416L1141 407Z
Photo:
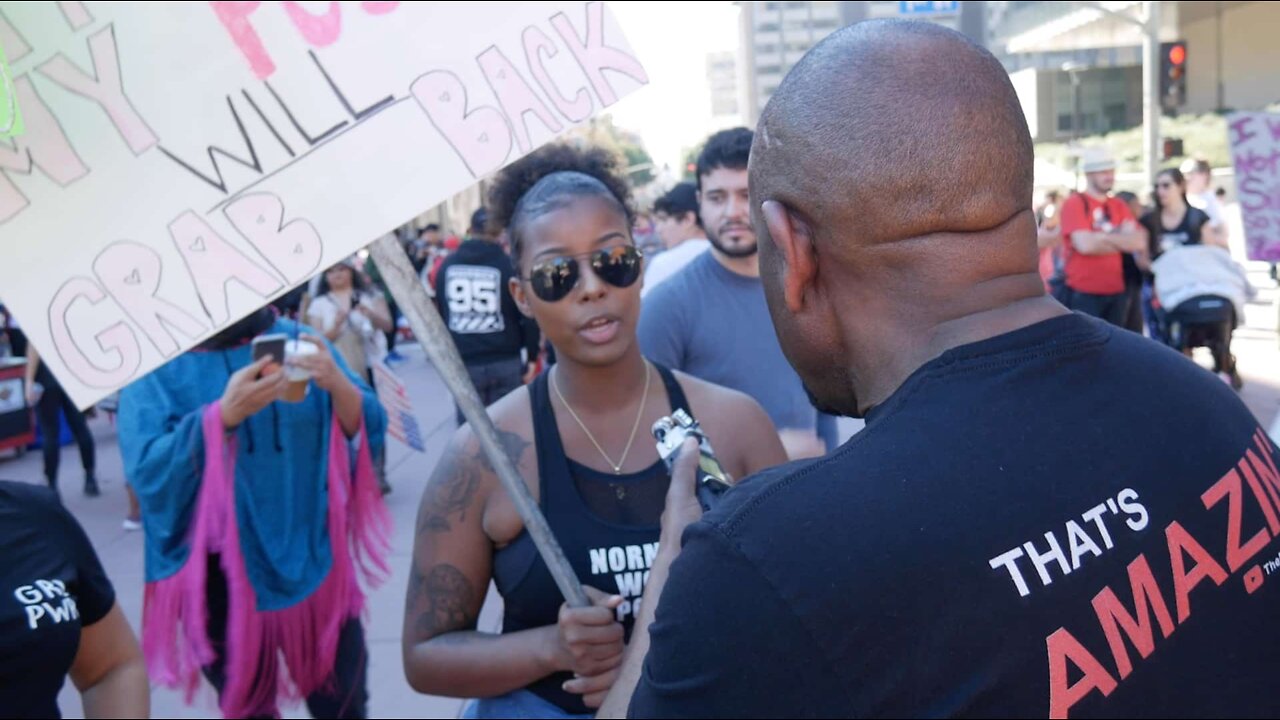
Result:
M1142 3L987 5L988 47L1012 76L1037 141L1142 124L1142 32L1123 19L1138 18ZM1176 111L1280 101L1280 4L1162 1L1160 18L1162 42L1187 44L1187 100Z

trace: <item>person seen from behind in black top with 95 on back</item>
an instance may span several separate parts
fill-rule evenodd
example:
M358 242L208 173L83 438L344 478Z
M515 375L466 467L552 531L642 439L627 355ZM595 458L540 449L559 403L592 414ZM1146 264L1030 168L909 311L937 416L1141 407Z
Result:
M435 306L488 406L532 379L539 336L538 324L520 314L507 290L515 277L511 259L490 238L486 223L480 208L471 215L467 240L435 273ZM457 418L460 425L466 421L461 407Z

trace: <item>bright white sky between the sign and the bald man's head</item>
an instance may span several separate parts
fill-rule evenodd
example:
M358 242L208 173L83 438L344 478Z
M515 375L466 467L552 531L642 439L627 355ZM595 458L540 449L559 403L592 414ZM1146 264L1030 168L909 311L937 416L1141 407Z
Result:
M611 109L618 127L635 131L659 165L678 174L684 150L707 138L712 123L707 55L737 50L733 3L609 3L649 85Z

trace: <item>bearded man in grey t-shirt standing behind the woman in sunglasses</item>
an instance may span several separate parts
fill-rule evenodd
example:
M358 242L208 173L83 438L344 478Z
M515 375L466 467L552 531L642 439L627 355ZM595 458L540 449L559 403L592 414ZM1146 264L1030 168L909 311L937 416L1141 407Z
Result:
M822 455L818 411L773 332L749 220L751 131L716 133L698 158L710 252L645 295L640 348L654 363L744 392L764 407L792 459Z

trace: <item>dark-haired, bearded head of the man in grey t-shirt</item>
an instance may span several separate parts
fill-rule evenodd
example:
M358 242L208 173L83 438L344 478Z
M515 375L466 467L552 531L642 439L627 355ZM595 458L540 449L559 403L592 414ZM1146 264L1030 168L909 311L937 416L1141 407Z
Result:
M751 156L751 131L721 131L707 140L698 155L698 209L707 238L728 258L756 252L751 229L746 165Z

